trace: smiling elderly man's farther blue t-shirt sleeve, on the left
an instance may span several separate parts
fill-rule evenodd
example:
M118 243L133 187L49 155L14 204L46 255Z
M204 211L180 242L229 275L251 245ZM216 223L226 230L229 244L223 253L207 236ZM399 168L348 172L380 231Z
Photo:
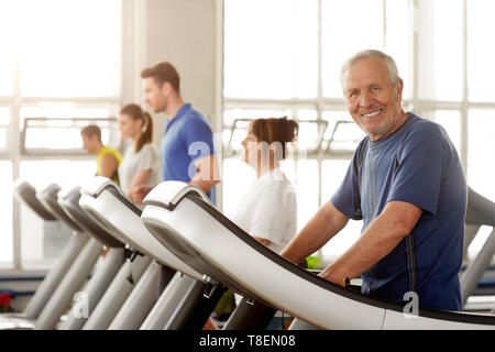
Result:
M345 177L339 189L330 198L331 204L344 216L353 220L363 219L359 187L359 168L363 157L363 143L358 147Z

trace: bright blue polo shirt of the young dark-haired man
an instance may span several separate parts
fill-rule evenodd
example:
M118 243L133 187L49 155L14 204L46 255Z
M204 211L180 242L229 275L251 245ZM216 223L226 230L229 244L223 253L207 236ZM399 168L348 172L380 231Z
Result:
M160 145L162 180L190 182L197 174L195 161L215 154L213 133L206 117L184 105L167 120ZM215 187L208 193L216 204Z

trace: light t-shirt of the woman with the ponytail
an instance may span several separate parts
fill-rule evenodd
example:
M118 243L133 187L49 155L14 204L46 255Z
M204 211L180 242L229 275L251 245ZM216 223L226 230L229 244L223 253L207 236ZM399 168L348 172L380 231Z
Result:
M128 194L134 175L145 169L152 170L146 179L146 185L160 183L160 155L156 146L146 143L135 153L134 144L129 145L119 164L119 183L124 194Z

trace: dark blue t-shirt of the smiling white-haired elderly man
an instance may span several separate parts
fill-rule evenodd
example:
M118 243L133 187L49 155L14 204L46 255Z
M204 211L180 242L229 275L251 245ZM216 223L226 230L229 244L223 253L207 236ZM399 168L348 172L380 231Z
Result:
M464 173L446 131L413 113L391 135L360 143L331 198L349 218L363 219L363 231L393 200L424 212L413 232L362 275L362 292L396 302L414 292L420 307L461 310Z

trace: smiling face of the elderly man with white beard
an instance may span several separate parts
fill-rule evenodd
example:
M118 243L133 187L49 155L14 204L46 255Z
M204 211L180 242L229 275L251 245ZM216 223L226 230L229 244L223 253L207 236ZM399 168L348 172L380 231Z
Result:
M397 87L392 85L383 61L361 59L345 70L343 78L348 110L372 141L400 127L403 81Z

